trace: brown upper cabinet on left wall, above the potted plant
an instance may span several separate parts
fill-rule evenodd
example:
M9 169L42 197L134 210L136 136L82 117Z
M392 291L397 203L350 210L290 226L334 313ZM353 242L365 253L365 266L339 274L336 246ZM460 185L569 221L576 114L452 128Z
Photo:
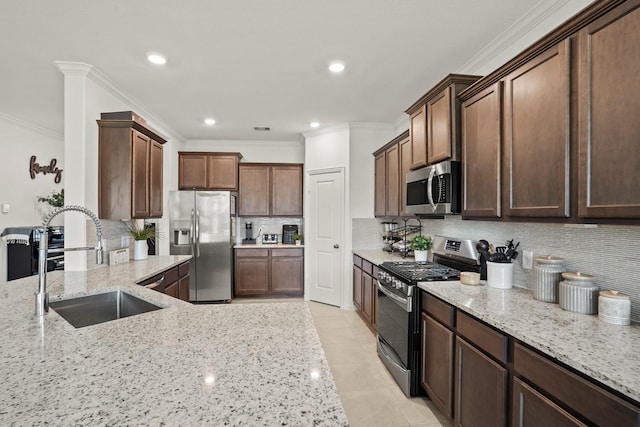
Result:
M98 217L162 217L162 144L166 140L139 117L97 123Z

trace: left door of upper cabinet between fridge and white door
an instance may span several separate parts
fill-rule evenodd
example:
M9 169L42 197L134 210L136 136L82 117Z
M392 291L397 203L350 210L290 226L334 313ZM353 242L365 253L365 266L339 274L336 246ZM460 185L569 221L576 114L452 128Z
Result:
M239 166L238 213L240 216L269 216L271 168Z

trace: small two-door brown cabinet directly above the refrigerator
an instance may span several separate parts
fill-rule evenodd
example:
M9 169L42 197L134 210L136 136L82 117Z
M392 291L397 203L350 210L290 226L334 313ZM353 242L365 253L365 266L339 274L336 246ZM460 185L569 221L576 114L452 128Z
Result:
M238 190L240 153L178 152L179 190Z

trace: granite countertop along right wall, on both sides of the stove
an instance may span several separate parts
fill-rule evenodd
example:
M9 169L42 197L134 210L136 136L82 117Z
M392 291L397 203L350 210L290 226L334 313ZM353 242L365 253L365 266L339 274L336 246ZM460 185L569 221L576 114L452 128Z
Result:
M381 250L354 253L376 264L402 259ZM495 289L484 280L480 286L459 281L421 282L418 286L640 402L640 325L605 323L598 316L535 300L529 289Z

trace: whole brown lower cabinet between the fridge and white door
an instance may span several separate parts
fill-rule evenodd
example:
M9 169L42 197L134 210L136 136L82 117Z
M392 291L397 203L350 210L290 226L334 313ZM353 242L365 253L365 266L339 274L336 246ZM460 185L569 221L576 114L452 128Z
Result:
M304 293L303 249L236 249L234 295Z

